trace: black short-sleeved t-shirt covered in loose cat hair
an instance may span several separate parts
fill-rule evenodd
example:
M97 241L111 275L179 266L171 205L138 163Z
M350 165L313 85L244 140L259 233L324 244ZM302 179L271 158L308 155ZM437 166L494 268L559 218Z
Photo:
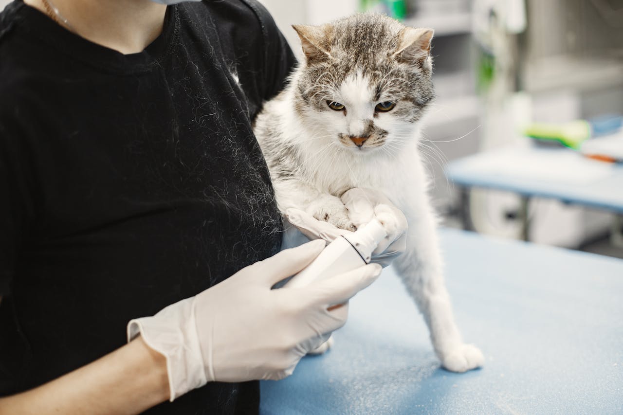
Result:
M153 315L275 254L251 123L294 58L251 0L169 6L139 54L15 1L0 14L0 395L125 344ZM235 330L235 327L232 327ZM211 383L150 413L257 412Z

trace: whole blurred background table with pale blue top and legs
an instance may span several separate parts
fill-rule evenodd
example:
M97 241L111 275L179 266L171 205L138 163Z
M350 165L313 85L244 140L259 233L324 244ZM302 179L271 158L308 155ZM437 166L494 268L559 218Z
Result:
M591 160L568 148L513 146L448 163L447 178L462 186L462 220L470 229L468 189L511 191L522 196L523 237L529 239L528 201L558 199L623 214L623 165Z

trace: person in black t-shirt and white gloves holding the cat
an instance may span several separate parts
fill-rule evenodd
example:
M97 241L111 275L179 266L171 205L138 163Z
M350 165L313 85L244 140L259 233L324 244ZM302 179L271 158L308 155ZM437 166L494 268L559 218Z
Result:
M252 133L293 65L254 0L0 13L0 413L257 413L345 323L378 265L271 289L324 246Z

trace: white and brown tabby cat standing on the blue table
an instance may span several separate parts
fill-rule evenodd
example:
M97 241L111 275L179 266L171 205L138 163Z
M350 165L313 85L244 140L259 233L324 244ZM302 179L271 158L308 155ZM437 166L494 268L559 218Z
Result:
M393 265L436 355L450 371L481 366L482 353L454 322L418 151L420 121L434 98L432 29L376 13L293 28L305 60L254 122L280 211L296 207L353 230L340 196L351 188L383 192L409 223L407 250Z

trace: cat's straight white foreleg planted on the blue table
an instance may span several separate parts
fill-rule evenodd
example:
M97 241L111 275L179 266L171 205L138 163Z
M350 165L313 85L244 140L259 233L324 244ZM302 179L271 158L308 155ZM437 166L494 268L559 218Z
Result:
M450 371L464 372L482 366L484 358L476 346L463 342L454 321L442 272L436 219L430 206L424 205L420 204L416 215L409 218L407 250L394 261L394 266L424 315L442 365Z

